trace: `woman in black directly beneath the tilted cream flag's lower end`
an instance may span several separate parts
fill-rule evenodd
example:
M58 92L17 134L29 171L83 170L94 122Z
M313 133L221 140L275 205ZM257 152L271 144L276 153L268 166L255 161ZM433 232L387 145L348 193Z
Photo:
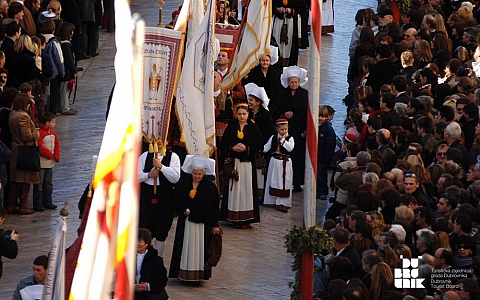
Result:
M253 82L265 88L268 98L275 99L282 89L280 72L274 66L278 62L278 47L270 46L270 52L270 54L260 57L258 65L248 73L243 84Z

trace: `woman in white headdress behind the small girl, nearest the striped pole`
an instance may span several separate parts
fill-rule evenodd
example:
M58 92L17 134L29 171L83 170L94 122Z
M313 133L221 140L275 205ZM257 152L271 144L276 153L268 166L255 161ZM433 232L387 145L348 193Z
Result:
M292 152L294 192L301 192L305 176L305 142L307 131L308 91L303 88L308 82L307 70L292 66L283 68L280 77L285 87L269 104L274 120L284 117L288 120L288 132L295 138Z

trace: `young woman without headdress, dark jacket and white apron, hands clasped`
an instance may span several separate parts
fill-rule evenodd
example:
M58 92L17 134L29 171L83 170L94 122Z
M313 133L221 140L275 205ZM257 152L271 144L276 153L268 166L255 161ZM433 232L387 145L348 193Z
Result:
M234 223L234 228L248 228L260 221L257 196L255 154L262 147L262 134L248 117L248 106L239 103L237 119L230 122L222 138L223 153L234 160L237 178L230 178L223 192L220 219Z

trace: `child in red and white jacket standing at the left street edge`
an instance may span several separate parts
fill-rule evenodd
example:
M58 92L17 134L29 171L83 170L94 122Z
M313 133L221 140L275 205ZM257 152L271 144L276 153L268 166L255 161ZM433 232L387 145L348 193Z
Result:
M55 209L52 203L53 166L60 161L60 143L53 128L56 125L54 114L46 112L40 117L40 137L37 144L40 148L40 184L33 185L33 210L44 211Z

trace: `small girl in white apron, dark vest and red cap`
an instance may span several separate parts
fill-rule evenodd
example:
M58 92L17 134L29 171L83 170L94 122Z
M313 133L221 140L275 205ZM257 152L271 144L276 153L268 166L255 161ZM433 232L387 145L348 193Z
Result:
M289 153L295 142L288 135L288 121L281 118L276 121L277 134L272 135L263 147L263 152L271 153L272 159L268 165L267 183L265 185L264 204L275 204L275 209L288 212L292 206L293 169Z

